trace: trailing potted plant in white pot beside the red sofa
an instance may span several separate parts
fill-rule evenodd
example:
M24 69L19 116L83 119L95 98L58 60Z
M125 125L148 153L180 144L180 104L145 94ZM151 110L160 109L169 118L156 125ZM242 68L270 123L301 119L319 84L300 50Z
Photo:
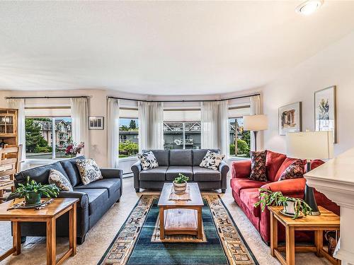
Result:
M259 191L261 192L259 201L254 206L261 206L262 211L265 210L265 206L283 206L284 210L280 212L292 216L293 219L298 218L300 213L307 216L312 212L312 208L303 199L284 196L282 192L272 192L268 189L261 188Z

